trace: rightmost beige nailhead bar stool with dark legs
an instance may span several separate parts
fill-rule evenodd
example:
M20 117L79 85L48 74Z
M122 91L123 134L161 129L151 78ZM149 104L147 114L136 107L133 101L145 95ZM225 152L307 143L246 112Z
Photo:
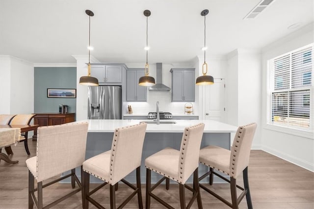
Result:
M253 208L248 180L248 165L256 127L256 123L240 126L236 131L231 151L217 146L207 146L200 151L200 163L209 166L209 172L201 176L199 181L209 175L209 184L212 185L214 174L230 183L232 203L220 197L201 183L200 187L233 209L238 209L238 205L244 196L246 196L248 208ZM214 172L213 169L227 174L230 176L230 180ZM244 188L236 185L236 178L241 172L243 172ZM236 188L242 190L239 197L236 195Z

